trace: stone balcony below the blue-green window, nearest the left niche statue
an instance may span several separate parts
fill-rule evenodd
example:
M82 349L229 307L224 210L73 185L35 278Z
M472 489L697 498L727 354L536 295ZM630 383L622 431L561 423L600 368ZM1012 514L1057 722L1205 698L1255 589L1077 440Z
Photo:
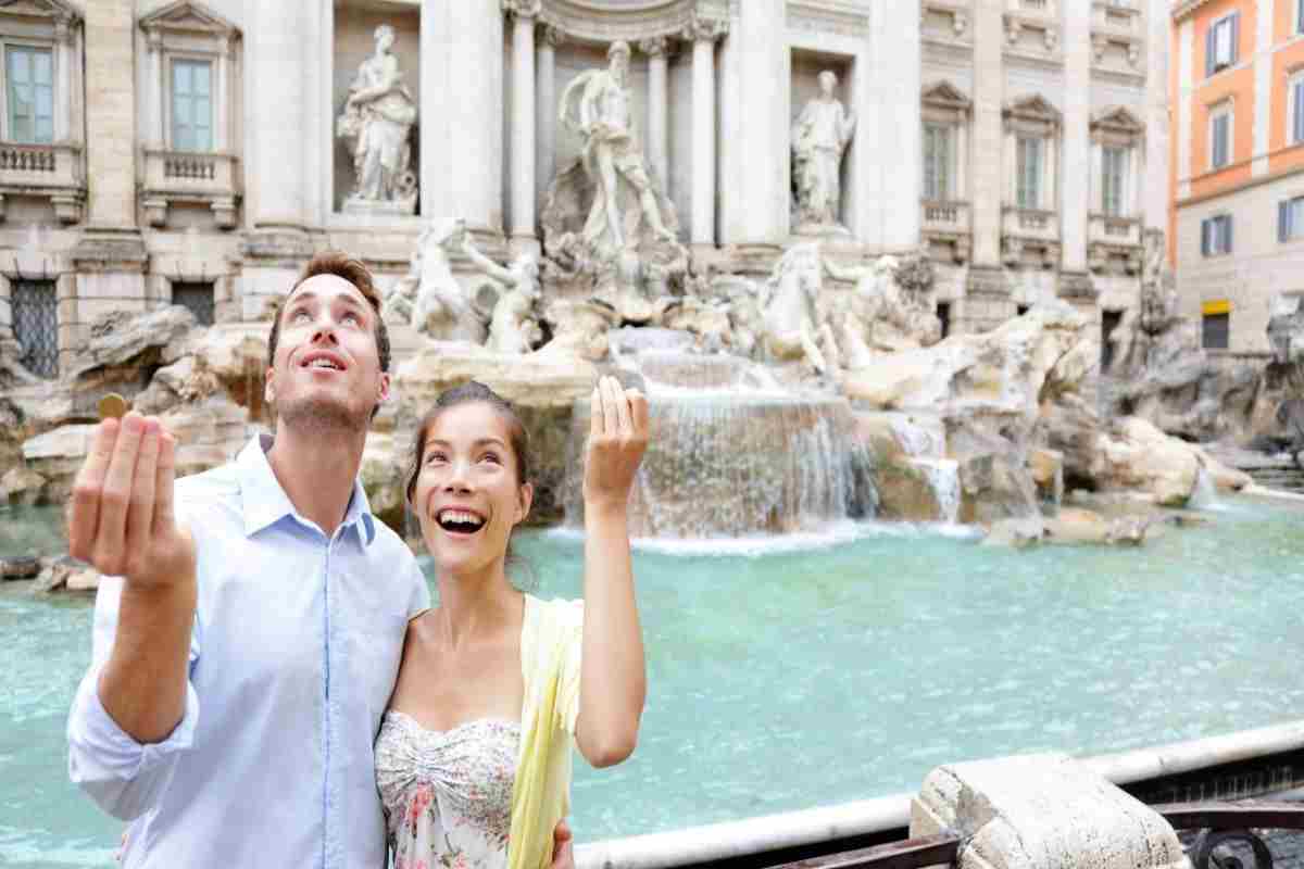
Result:
M167 224L173 202L207 205L223 229L236 225L240 160L232 154L145 151L141 203L151 225Z

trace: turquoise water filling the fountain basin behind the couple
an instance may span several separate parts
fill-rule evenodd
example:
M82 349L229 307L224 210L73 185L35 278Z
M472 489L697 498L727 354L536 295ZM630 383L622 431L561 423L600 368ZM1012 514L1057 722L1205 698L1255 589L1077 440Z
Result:
M1236 502L1142 550L992 550L861 526L768 555L636 556L648 707L635 756L576 760L580 840L918 787L941 762L1097 753L1297 719L1300 513ZM34 521L0 513L0 543ZM46 533L46 532L40 532ZM523 535L540 593L580 542ZM0 554L5 554L0 550ZM67 784L90 601L0 586L0 865L111 865L119 825Z

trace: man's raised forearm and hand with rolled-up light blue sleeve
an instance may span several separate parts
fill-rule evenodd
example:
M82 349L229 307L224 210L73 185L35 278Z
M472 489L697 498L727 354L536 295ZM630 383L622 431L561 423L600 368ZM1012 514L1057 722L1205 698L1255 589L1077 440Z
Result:
M96 599L96 664L69 718L69 774L117 817L149 806L171 774L162 761L189 747L198 715L188 681L196 547L173 513L175 469L172 436L129 413L99 425L73 487L69 552L121 578Z

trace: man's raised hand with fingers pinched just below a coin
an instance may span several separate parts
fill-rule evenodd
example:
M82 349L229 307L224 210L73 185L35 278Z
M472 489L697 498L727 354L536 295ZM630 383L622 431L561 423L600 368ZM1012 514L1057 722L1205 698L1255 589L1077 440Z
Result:
M176 439L154 417L104 420L73 486L68 551L136 588L194 580L194 538L176 522Z

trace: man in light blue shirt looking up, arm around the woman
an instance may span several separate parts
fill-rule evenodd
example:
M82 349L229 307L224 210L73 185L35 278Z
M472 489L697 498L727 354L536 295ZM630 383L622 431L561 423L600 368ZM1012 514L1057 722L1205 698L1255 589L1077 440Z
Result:
M95 434L69 550L108 576L68 765L132 822L125 866L385 865L372 741L429 591L357 482L390 391L379 307L356 259L308 263L271 327L275 438L231 464L173 485L158 420Z

